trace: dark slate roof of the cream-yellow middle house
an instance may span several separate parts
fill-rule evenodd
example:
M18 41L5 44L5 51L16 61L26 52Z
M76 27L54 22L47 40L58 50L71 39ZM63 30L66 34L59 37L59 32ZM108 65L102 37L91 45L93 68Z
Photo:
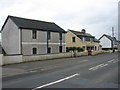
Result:
M70 30L68 29L69 31L71 31L73 34L75 34L77 37L81 38L81 37L90 37L90 38L94 38L94 42L99 42L99 40L97 40L95 38L95 36L92 36L91 34L89 33L83 33L83 32L79 32L79 31L74 31L74 30Z

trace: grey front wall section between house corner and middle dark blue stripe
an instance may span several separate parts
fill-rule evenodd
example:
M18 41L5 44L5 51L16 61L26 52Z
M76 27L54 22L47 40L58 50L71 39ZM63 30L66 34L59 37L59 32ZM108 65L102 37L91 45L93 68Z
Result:
M32 30L22 29L23 55L32 55L32 49L37 48L37 54L47 54L47 32L37 31L37 39L32 39Z

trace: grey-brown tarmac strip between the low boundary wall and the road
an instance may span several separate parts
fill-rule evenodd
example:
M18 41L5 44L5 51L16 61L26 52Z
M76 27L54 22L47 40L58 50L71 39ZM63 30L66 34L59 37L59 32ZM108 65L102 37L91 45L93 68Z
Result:
M2 66L2 77L20 75L34 72L35 70L52 69L63 63L74 62L73 58L62 58L53 60L43 60L34 62L24 62L19 64L10 64Z

